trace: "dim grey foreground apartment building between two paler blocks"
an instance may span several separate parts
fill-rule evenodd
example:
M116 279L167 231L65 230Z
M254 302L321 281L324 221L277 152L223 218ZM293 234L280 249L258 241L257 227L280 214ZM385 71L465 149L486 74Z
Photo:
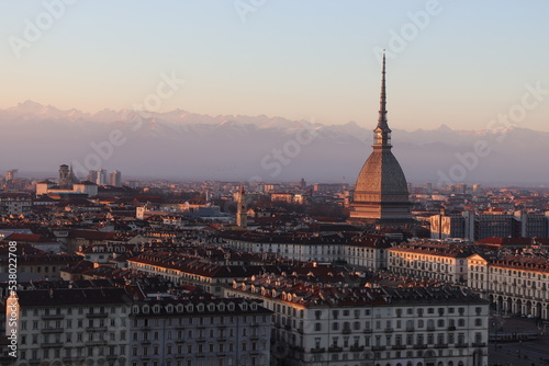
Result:
M130 366L268 366L271 311L258 300L155 299L130 314Z

